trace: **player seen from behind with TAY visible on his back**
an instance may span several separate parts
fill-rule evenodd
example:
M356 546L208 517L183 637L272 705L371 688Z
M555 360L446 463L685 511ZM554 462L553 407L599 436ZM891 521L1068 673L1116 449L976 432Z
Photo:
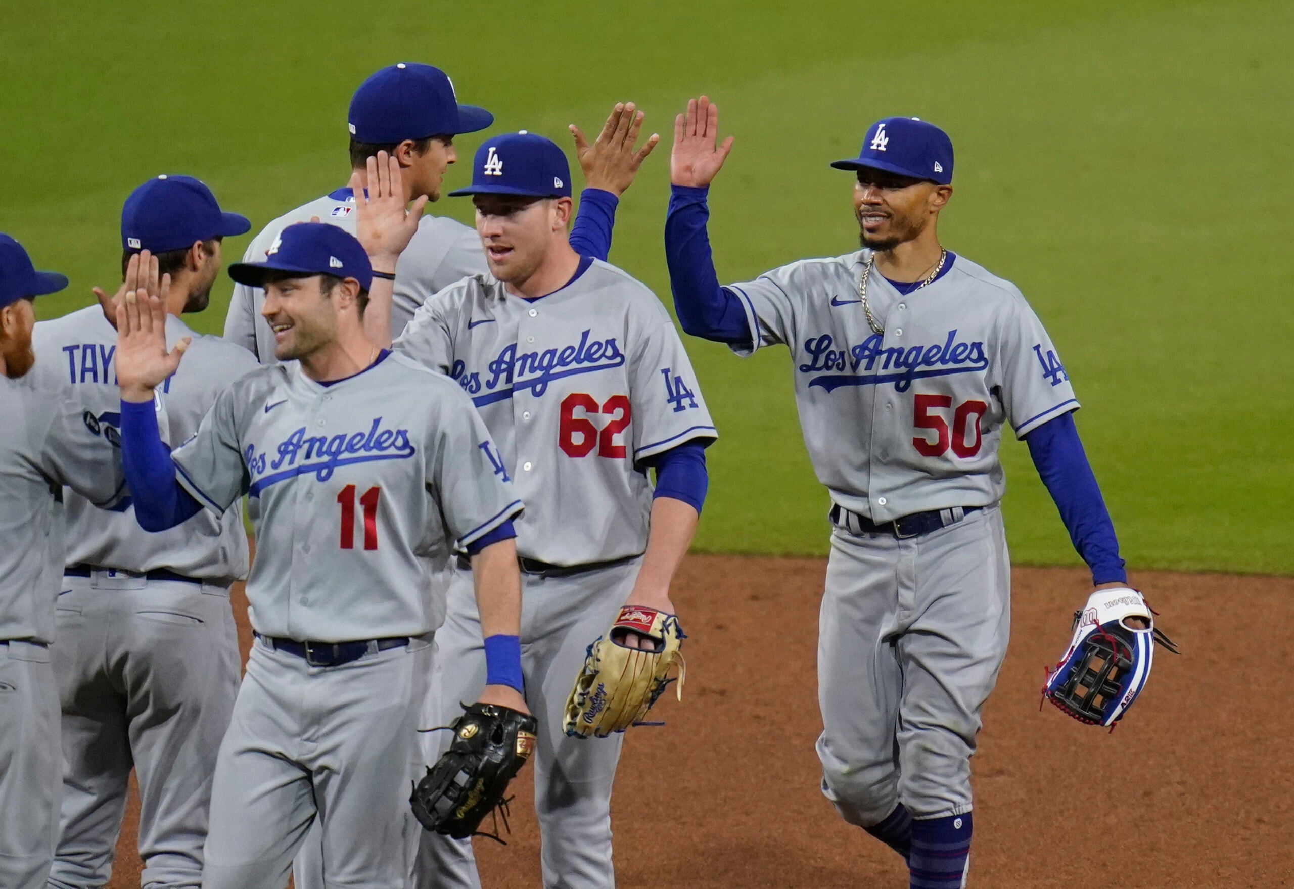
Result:
M167 340L192 342L184 365L155 392L168 446L192 436L216 395L258 366L246 349L180 320L207 307L221 239L248 228L188 176L150 179L122 210L123 294L141 283L157 292L167 277ZM36 371L52 388L69 388L91 428L119 443L116 330L104 309L41 321L34 343ZM107 883L133 766L144 885L197 886L216 751L238 688L229 586L247 576L241 501L157 534L140 528L129 503L98 510L72 490L63 503L69 534L53 648L63 795L49 884Z

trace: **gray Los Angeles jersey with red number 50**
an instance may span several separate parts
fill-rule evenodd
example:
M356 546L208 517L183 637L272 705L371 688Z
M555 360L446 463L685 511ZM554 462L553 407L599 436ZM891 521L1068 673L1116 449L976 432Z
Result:
M875 270L875 334L859 304L867 250L729 285L754 347L785 343L818 480L873 521L998 502L1002 424L1024 437L1075 410L1069 375L1025 298L964 256L906 296Z

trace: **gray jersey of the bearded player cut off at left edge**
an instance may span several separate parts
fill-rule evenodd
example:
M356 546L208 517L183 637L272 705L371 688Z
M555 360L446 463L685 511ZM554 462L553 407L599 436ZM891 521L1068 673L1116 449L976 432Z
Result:
M53 642L62 487L105 507L124 496L120 455L83 413L58 390L0 374L0 639Z

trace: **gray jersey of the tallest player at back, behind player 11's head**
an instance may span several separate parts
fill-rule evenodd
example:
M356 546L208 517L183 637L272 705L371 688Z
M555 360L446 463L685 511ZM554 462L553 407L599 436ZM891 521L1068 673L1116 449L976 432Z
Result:
M260 263L278 233L294 223L318 216L355 234L355 198L343 188L287 212L267 225L247 245L245 263ZM474 229L444 216L423 216L418 230L396 264L395 298L391 303L391 335L399 336L413 313L428 296L468 274L485 273L485 256ZM225 316L225 339L251 349L261 364L274 364L274 334L260 317L265 291L234 285Z

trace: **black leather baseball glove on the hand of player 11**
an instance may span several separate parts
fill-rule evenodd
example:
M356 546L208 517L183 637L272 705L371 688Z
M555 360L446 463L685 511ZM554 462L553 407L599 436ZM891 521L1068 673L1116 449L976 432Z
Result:
M502 807L507 783L534 751L538 723L498 704L472 704L452 726L454 740L413 788L413 814L428 831L455 840L475 836L485 815ZM480 833L499 840L498 833ZM499 840L502 841L502 840Z

